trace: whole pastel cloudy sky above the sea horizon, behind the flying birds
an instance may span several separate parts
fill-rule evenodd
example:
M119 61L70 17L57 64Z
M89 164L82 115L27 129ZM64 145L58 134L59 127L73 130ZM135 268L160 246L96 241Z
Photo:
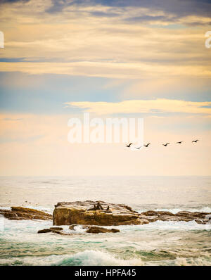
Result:
M208 0L1 0L0 175L210 175L209 30ZM84 112L151 146L70 144Z

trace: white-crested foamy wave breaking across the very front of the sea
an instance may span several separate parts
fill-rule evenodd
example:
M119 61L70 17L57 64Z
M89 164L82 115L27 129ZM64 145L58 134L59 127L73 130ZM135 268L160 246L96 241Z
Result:
M176 266L210 266L209 257L175 257L165 260L148 260L141 258L120 259L100 250L84 250L72 255L49 255L47 257L13 257L0 259L0 265L20 266L143 266L143 265L176 265Z

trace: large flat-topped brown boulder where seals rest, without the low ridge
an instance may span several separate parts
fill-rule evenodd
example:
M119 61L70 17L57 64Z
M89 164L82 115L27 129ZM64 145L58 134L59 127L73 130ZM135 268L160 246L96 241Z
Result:
M99 201L103 209L96 209L98 201L58 203L53 211L53 225L89 224L117 226L122 224L148 224L147 219L124 204ZM109 210L106 210L109 206Z

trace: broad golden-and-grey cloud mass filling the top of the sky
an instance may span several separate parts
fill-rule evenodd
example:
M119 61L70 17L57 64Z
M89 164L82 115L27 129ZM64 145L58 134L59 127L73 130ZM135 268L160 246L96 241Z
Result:
M160 8L153 8L155 1L130 2L4 3L1 71L120 79L210 77L210 49L204 37L210 15L177 16L171 11L181 9L178 1L159 1ZM46 12L52 4L58 13Z

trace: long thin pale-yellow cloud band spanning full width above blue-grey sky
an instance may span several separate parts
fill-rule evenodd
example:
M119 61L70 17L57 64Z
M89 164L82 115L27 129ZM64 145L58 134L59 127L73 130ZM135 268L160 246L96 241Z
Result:
M29 74L62 74L117 79L139 79L163 76L210 77L210 67L159 65L150 63L0 63L2 72L25 72Z

